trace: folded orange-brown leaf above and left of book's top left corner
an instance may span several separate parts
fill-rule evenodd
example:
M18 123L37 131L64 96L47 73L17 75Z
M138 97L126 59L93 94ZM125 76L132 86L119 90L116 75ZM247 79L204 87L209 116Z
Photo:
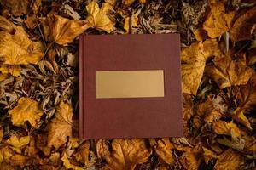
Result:
M56 14L49 15L46 23L48 27L44 26L44 30L49 29L55 42L60 45L73 42L75 37L78 37L90 26L86 20L69 20ZM44 24L45 22L43 22Z

